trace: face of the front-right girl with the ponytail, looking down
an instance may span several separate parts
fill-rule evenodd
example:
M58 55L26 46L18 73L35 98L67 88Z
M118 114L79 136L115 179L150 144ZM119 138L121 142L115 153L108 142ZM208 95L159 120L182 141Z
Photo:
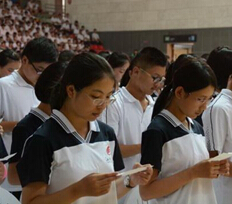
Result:
M179 93L178 90L175 91L176 95L179 94L177 100L178 108L182 114L192 119L201 115L202 112L207 108L207 105L211 101L215 90L215 88L211 85L192 93L186 93L183 87L181 87L181 89L182 90L180 90Z

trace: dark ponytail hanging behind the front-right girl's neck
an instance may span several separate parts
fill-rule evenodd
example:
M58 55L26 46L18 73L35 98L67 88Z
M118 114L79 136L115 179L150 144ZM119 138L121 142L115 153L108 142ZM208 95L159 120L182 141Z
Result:
M166 108L171 102L173 96L173 87L172 83L165 86L159 97L155 102L155 106L153 108L152 119L158 115L164 108Z

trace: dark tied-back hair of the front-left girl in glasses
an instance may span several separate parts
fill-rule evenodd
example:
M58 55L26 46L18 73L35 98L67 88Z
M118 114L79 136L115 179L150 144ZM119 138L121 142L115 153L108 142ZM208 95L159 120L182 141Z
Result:
M111 78L115 83L114 72L103 57L93 53L81 53L74 56L60 83L54 89L51 99L52 109L60 110L63 106L67 97L66 87L68 85L74 85L78 91L105 76Z

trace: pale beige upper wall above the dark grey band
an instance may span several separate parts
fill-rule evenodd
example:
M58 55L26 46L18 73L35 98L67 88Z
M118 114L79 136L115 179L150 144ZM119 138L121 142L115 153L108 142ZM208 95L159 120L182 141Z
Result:
M67 2L67 0L66 0ZM66 11L89 30L132 31L232 26L232 0L72 0Z

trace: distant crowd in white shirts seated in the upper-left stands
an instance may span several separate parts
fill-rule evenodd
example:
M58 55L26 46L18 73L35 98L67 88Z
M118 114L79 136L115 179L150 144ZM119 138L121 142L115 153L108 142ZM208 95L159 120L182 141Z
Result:
M0 48L13 49L21 53L27 42L36 37L51 39L58 50L71 50L75 53L104 50L97 29L92 33L76 20L70 22L69 15L54 13L50 22L42 22L37 14L42 13L40 5L29 0L26 8L4 1L0 7Z

